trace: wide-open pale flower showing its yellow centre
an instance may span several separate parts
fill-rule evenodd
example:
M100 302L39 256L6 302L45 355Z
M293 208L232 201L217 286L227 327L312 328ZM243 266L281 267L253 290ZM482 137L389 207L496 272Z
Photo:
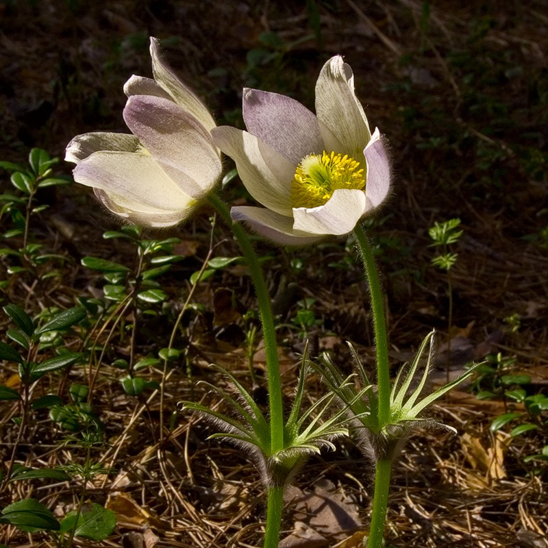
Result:
M353 73L339 55L316 82L316 115L290 97L246 88L243 116L247 132L223 126L212 134L264 206L232 208L232 218L262 236L300 245L347 234L388 194L379 130L371 134Z

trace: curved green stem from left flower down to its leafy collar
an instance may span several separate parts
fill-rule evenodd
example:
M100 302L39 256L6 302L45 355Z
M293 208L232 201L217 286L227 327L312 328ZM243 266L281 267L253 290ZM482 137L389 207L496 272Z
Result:
M282 379L279 375L276 332L269 292L266 289L262 269L247 233L240 224L232 222L226 204L219 197L211 193L209 201L232 228L232 232L242 248L257 293L266 353L266 377L269 383L271 455L275 455L284 449L284 412L282 408Z

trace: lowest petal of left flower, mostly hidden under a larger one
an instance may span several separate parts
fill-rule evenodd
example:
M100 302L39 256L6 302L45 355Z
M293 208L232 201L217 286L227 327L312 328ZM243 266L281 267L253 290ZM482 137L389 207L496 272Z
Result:
M114 193L108 194L104 190L94 188L95 196L103 203L103 206L121 216L123 219L127 219L131 223L138 225L161 228L171 227L177 225L194 210L197 202L189 197L189 201L186 208L182 208L174 211L158 210L157 208L147 207L145 204L128 200L127 197L116 195Z

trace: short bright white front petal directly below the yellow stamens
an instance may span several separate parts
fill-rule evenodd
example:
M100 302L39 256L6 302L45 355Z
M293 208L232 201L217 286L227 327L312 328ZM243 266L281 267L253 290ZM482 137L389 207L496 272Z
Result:
M365 203L362 190L339 188L323 206L293 209L293 228L311 235L348 234L362 218Z

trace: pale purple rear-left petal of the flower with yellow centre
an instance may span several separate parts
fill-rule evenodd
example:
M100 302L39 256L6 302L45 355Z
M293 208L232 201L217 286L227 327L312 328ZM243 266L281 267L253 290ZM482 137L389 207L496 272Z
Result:
M249 133L273 147L295 167L306 155L323 151L316 116L295 99L245 88L243 116Z

